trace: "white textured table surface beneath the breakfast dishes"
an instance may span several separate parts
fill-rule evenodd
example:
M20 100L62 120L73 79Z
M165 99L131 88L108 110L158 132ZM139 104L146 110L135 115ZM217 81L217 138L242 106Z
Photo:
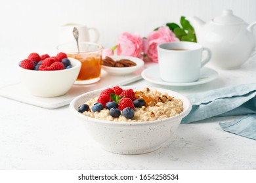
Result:
M21 55L2 53L0 87L18 80L18 58ZM219 77L213 82L173 90L187 95L256 82L256 57L240 69L216 70ZM145 80L129 85L161 87ZM0 97L0 169L256 169L256 141L219 126L232 118L181 124L159 150L125 156L102 150L68 106L45 109Z

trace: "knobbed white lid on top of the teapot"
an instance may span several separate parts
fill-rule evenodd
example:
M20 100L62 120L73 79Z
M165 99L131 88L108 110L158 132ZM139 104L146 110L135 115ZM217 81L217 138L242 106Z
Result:
M232 10L223 10L223 14L221 16L217 16L213 18L213 22L218 24L242 24L244 20L235 16Z

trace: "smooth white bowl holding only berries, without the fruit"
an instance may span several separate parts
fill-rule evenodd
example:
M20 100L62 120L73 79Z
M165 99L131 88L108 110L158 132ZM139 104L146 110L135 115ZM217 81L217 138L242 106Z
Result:
M79 60L68 59L70 59L72 68L59 71L35 71L18 66L20 80L32 95L38 97L64 95L74 84L81 69Z

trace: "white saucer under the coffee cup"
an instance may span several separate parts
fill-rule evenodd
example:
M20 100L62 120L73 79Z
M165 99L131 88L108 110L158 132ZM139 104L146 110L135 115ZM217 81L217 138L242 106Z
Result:
M142 78L147 80L148 82L152 82L154 84L160 84L163 86L173 86L173 87L190 87L190 86L197 86L200 84L204 84L207 82L211 82L217 78L218 73L217 71L210 69L208 67L203 67L201 69L200 78L196 82L165 82L160 78L160 71L159 66L149 67L142 71L141 73Z

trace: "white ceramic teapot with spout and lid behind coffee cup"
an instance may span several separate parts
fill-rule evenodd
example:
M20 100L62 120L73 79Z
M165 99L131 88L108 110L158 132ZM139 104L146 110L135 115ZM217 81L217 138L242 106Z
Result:
M240 67L255 49L253 27L234 16L232 10L223 10L211 22L205 23L197 17L187 18L196 31L198 43L212 52L211 63L221 69Z

